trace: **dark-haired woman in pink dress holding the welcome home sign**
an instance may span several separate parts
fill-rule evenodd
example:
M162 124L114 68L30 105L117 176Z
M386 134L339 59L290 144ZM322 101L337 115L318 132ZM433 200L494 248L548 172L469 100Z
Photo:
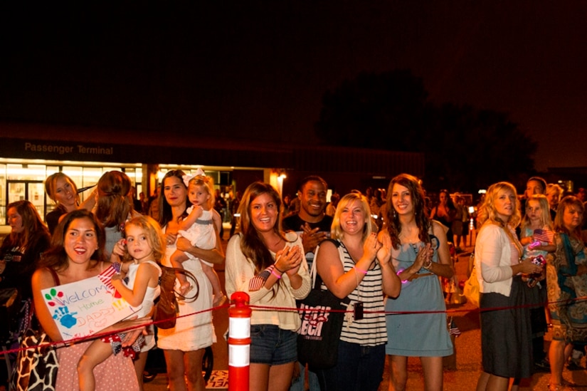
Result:
M77 210L65 215L63 221L55 229L51 241L51 249L46 251L39 263L39 269L33 274L33 300L35 313L43 330L53 341L63 340L60 326L75 331L78 319L75 315L85 302L79 301L69 306L51 307L41 292L44 289L58 287L63 284L75 283L87 278L97 277L106 271L110 264L102 261L105 234L97 219L91 212ZM55 289L55 300L59 302L60 291ZM51 295L50 295L51 296ZM71 298L68 298L71 301ZM116 323L108 330L121 330L136 327L146 320L126 320ZM130 345L139 332L127 333L122 345ZM92 341L76 342L74 345L57 349L59 370L55 388L57 390L79 390L78 362ZM95 390L138 390L137 375L134 373L132 360L123 354L110 355L102 364L95 368ZM116 381L112 381L115 379Z

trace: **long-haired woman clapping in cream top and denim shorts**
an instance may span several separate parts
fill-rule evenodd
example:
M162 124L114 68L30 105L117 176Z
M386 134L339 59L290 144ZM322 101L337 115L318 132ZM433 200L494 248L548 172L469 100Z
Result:
M249 388L289 390L300 316L287 310L310 293L302 239L281 230L281 197L270 184L250 184L238 212L241 234L226 248L226 292L248 293L250 304L273 308L250 318Z

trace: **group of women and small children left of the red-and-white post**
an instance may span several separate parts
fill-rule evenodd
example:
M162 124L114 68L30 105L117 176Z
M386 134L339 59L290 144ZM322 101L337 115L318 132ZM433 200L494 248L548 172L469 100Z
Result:
M179 301L179 318L173 328L158 330L157 345L164 351L171 390L205 389L201 367L191 363L202 363L205 348L216 336L209 311L189 315L212 308L214 298L226 300L210 266L223 264L224 254L218 239L220 224L202 217L208 216L204 212L215 213L210 212L210 194L201 195L201 184L208 184L208 192L213 192L213 182L202 172L196 175L194 188L189 183L184 172L167 172L158 189L161 196L153 201L157 219L134 209L134 187L120 171L102 174L84 202L70 177L61 172L49 176L46 192L55 207L45 222L31 202L8 205L11 233L0 246L0 288L17 288L23 308L32 302L33 328L61 341L59 317L50 311L41 291L98 276L109 266L117 266L112 286L139 308L133 318L100 330L101 335L112 333L107 338L57 348L59 367L53 384L57 390L142 390L147 353L156 343L154 326L147 324L160 292L159 265L173 264L191 271L198 294L194 300ZM201 214L196 222L212 226L206 231L212 236L211 245L201 244L189 235L189 226L181 224L189 221L189 207ZM185 231L180 233L181 229ZM178 262L176 251L186 254L185 259ZM24 375L14 373L18 380Z

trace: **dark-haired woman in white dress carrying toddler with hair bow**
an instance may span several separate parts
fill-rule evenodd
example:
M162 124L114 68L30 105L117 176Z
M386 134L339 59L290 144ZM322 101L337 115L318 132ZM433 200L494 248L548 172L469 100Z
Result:
M164 266L171 266L170 257L176 249L187 251L194 259L184 261L186 271L196 276L199 294L194 301L179 301L179 316L174 328L159 328L157 346L164 350L167 364L167 376L172 391L186 390L186 381L190 390L204 390L205 385L201 371L201 362L205 348L216 341L212 325L212 286L202 271L199 259L222 264L224 254L221 241L216 233L216 248L203 250L191 245L188 239L178 237L179 223L188 214L188 192L184 184L184 172L171 170L165 174L159 191L159 224L164 231L166 241ZM194 314L197 313L197 314ZM190 314L194 314L191 315Z

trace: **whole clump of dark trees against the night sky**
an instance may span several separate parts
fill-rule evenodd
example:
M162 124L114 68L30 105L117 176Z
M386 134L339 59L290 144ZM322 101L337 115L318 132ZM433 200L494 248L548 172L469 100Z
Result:
M427 100L411 71L361 73L324 94L315 125L326 145L424 152L425 187L476 192L534 171L536 142L507 113Z

